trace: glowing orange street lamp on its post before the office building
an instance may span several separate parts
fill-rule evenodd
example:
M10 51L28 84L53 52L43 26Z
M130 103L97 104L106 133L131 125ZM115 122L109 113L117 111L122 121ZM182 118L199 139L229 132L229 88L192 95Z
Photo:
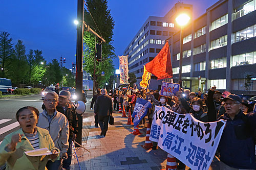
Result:
M180 14L176 19L176 22L178 23L178 25L180 26L180 69L179 69L179 84L180 87L182 87L182 58L183 58L183 29L184 26L187 25L188 21L190 20L190 17L183 13Z

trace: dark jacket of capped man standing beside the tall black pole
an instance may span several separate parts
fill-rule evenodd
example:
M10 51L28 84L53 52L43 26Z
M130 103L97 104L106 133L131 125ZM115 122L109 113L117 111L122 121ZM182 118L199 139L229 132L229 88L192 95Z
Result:
M73 134L78 133L78 118L76 115L75 107L68 103L66 111L64 111L61 105L56 107L56 110L64 114L69 122L69 136L72 137Z

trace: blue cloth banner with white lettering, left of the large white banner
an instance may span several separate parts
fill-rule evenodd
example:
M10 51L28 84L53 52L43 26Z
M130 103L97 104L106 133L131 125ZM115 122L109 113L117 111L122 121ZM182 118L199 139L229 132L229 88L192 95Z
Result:
M134 117L134 127L140 123L140 120L146 115L148 108L151 108L151 106L152 105L150 102L141 98L137 98L132 115Z

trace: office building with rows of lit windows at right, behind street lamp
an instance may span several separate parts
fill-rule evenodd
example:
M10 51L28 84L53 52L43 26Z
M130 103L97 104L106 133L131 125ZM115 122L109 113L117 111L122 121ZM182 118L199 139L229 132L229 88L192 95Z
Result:
M183 37L183 87L256 94L256 0L217 2L184 28ZM169 42L177 82L180 31Z

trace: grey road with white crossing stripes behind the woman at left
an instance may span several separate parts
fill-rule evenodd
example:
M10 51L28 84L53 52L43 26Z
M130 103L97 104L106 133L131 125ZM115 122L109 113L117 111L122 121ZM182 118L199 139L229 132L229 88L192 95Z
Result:
M88 117L94 113L90 110L89 100L92 98L92 93L87 94L86 113L83 113L83 117ZM42 112L41 106L43 101L41 95L24 96L19 98L2 99L0 100L0 143L4 137L11 132L19 128L19 124L16 120L16 112L18 109L25 106L33 106Z

